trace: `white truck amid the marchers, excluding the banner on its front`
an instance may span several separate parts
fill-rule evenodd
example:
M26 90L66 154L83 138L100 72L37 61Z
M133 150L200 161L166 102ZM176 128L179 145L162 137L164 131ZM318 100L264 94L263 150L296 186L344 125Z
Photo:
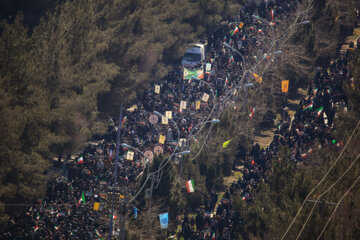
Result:
M181 65L183 67L197 67L203 68L205 62L205 44L196 43L190 45L191 48L186 50L185 55L182 58Z

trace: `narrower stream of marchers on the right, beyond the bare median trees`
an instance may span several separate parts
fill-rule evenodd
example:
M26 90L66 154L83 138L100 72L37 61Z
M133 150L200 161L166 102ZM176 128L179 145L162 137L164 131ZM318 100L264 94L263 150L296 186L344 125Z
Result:
M347 98L343 91L343 83L351 86L353 79L349 71L349 61L356 49L360 49L360 38L356 44L351 42L349 49L341 53L329 68L317 68L316 76L308 86L307 97L303 97L297 106L293 118L287 109L283 110L282 119L275 131L269 146L260 149L255 144L244 159L243 176L232 183L216 208L217 201L213 194L204 202L205 209L199 210L196 217L187 215L181 222L180 231L173 234L173 239L208 240L237 239L234 231L241 226L241 213L234 210L232 196L240 194L243 201L251 204L251 190L260 181L266 181L266 172L271 171L272 162L280 146L290 149L290 160L296 166L306 164L311 155L324 146L340 147L334 136L334 118L337 112L347 111ZM316 145L315 143L318 143ZM210 203L208 203L210 199ZM211 212L209 208L211 206Z

